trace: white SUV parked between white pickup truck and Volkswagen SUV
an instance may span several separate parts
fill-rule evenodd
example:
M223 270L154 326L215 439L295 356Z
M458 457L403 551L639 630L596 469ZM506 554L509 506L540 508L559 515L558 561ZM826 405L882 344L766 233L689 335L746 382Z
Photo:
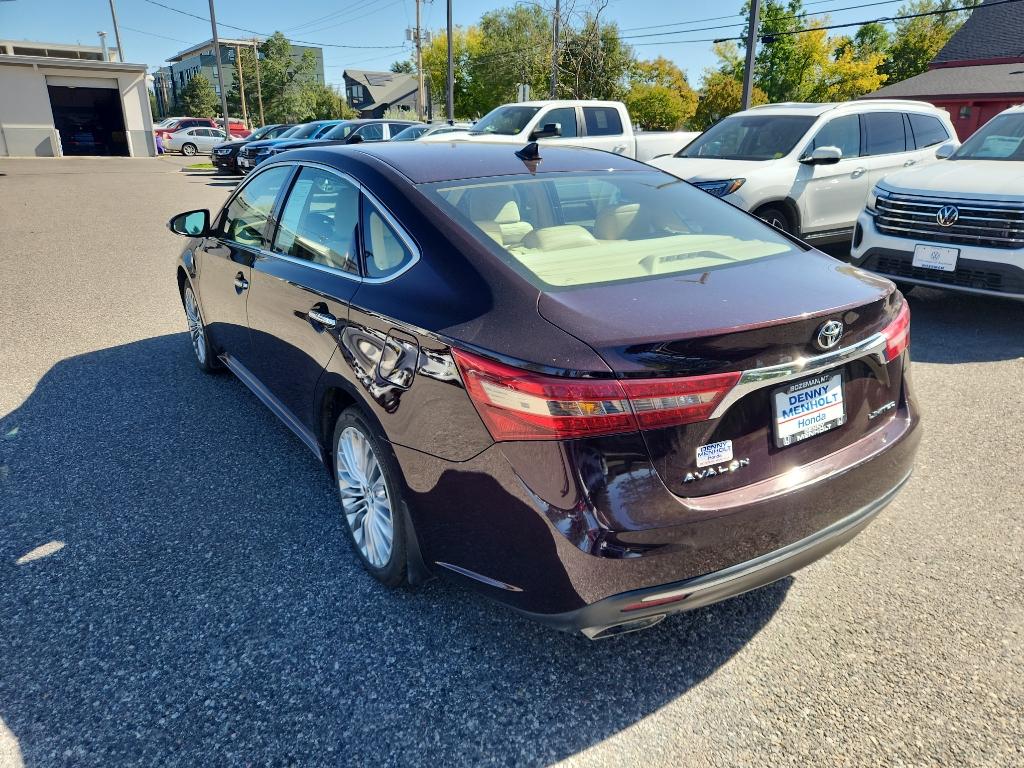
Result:
M949 115L923 101L767 104L650 164L817 244L849 241L879 179L934 161L955 135Z

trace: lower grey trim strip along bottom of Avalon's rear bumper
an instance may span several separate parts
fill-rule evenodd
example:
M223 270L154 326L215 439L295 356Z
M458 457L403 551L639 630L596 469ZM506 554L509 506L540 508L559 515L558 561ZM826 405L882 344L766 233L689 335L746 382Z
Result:
M695 579L612 595L565 613L529 613L530 617L592 640L646 629L671 613L701 608L765 587L810 565L853 539L896 497L909 473L884 496L828 527L781 549Z

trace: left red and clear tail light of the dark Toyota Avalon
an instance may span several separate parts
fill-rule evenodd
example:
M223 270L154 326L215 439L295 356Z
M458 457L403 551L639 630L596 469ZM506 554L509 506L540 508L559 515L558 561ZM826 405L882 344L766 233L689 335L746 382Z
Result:
M566 379L453 349L496 440L593 437L708 419L739 373L680 379Z

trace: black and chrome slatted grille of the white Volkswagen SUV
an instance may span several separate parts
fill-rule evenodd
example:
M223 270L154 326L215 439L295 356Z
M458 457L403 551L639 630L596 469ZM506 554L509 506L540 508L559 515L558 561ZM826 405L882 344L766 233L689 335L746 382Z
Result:
M958 213L951 226L942 226L937 220L946 206L953 206ZM886 234L984 248L1024 248L1021 205L880 195L877 207L874 224Z

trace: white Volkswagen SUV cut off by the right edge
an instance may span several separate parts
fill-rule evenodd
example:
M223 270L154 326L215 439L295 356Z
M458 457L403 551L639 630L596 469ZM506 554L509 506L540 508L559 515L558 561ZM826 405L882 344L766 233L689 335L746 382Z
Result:
M904 293L925 285L1024 299L1024 106L996 115L948 160L882 179L852 256Z

